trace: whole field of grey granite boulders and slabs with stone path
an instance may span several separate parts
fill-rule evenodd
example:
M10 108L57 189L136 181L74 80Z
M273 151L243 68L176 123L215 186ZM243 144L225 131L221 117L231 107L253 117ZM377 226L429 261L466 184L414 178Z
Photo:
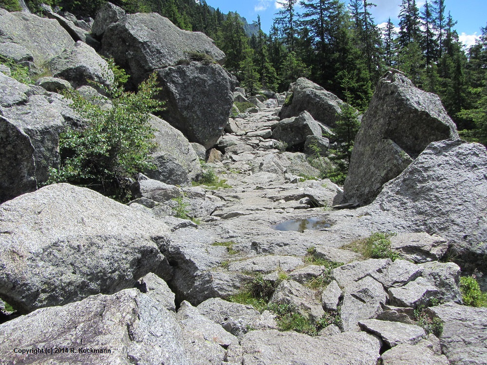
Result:
M55 76L0 69L1 365L487 364L487 310L460 291L486 285L487 151L436 95L384 75L341 187L317 164L336 146L330 92L247 96L210 38L156 14L46 12L0 9L0 55ZM85 123L56 91L111 106L86 82L113 81L99 53L133 82L156 72L167 100L128 204L39 188ZM229 117L234 102L254 107ZM356 249L379 232L388 255Z

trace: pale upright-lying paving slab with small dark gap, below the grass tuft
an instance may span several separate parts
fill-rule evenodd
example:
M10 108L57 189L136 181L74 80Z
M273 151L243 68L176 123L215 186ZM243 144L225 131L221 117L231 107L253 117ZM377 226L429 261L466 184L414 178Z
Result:
M375 318L388 299L382 284L370 276L347 287L344 292L340 310L344 331L357 331L358 321Z

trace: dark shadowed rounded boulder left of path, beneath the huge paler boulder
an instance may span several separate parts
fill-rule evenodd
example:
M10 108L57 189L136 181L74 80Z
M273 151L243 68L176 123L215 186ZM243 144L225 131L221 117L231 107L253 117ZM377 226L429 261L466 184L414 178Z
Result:
M205 148L215 145L228 122L233 81L219 65L190 62L157 72L167 100L162 117Z

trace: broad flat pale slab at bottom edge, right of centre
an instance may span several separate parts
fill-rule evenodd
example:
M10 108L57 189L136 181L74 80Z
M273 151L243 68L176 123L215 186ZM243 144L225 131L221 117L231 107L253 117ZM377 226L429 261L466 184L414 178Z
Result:
M376 365L380 340L365 332L310 337L294 331L251 331L241 339L245 365Z

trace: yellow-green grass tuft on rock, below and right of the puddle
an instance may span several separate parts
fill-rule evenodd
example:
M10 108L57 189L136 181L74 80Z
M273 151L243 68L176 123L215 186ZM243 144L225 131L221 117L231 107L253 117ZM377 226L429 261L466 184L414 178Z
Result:
M352 250L365 259L390 258L395 260L399 254L391 249L391 234L375 232L369 237L356 239L342 248Z

